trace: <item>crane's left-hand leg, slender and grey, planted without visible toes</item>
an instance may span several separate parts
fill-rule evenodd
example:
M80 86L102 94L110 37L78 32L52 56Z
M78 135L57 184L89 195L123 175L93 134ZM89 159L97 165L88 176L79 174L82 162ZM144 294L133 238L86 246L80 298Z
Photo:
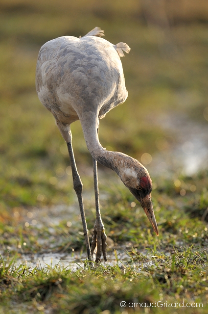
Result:
M68 151L69 151L69 158L71 162L71 171L72 171L72 178L73 178L73 188L76 192L78 202L79 202L79 209L81 213L81 218L82 218L82 225L83 225L83 232L84 232L84 237L85 237L85 243L87 247L87 254L88 254L88 260L92 261L92 254L91 254L91 249L90 249L90 241L89 241L89 236L88 236L88 228L87 228L87 222L86 222L86 217L85 217L85 209L83 205L83 198L82 198L82 188L83 184L80 179L80 176L77 171L76 163L75 163L75 158L74 158L74 153L73 153L73 148L71 141L67 143Z

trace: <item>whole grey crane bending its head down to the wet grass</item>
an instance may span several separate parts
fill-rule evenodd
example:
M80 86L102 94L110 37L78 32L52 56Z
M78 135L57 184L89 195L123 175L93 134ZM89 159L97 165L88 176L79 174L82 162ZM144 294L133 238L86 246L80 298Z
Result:
M44 44L39 52L36 68L36 90L41 103L54 116L56 125L67 143L87 248L92 261L106 255L106 234L99 208L97 162L114 170L124 185L139 201L155 233L158 226L151 201L152 181L146 168L138 160L119 152L104 149L99 142L99 120L116 105L122 104L128 92L120 57L130 48L125 43L111 44L101 38L104 31L95 27L83 37L62 36ZM70 125L80 120L87 148L92 155L96 220L90 247L81 182L77 171Z

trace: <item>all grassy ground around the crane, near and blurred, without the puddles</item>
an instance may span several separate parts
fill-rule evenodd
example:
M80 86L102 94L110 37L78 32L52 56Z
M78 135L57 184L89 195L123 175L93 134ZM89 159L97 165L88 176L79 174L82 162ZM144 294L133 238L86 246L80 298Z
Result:
M107 40L128 43L132 50L122 63L129 97L101 121L99 137L109 150L139 161L148 153L154 161L180 142L161 121L185 117L202 130L207 125L207 5L203 1L200 9L198 1L194 9L193 2L183 11L168 1L167 29L157 21L147 23L136 0L1 2L0 313L207 313L206 163L191 176L181 168L151 175L159 237L116 175L99 168L108 254L114 248L117 256L127 252L115 265L91 269L85 262L71 271L61 262L33 268L20 262L23 256L85 252L67 148L35 92L40 47L57 36L84 35L94 26L105 30ZM71 129L91 236L92 162L79 122ZM176 308L177 302L198 306Z

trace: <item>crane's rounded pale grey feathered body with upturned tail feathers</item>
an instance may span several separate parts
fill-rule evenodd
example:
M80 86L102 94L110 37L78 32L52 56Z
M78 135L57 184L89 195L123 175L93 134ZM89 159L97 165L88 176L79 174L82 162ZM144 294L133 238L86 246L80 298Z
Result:
M50 40L39 52L37 93L42 104L63 124L70 125L89 111L101 119L128 96L119 54L122 48L127 52L130 48L95 37L103 35L96 28L81 38Z

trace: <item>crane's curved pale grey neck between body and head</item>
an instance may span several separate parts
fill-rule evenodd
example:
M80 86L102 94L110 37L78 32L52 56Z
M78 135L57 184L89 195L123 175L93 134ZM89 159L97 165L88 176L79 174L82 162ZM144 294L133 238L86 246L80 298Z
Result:
M84 132L85 141L92 157L101 163L103 166L114 170L118 174L117 152L105 150L99 142L98 138L98 125L99 121L95 115L90 112L85 112L84 116L80 118L82 129Z

